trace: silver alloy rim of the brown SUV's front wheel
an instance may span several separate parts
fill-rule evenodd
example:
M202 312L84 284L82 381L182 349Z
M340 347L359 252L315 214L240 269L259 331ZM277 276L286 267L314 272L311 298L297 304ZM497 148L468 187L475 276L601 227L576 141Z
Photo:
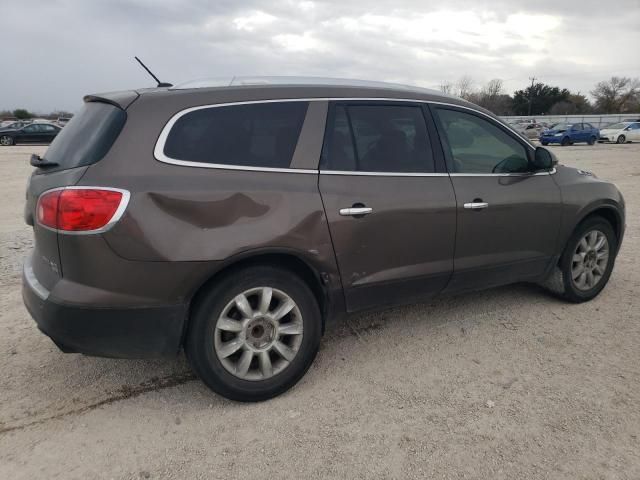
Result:
M609 263L609 242L600 230L587 232L573 253L571 278L578 290L591 290L602 280Z

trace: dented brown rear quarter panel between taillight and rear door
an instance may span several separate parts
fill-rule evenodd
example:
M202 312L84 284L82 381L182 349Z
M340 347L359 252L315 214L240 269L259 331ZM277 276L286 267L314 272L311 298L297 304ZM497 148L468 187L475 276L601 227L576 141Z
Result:
M129 107L116 143L81 181L131 192L124 216L104 240L131 261L208 263L209 271L185 290L234 257L267 251L295 255L339 285L316 173L197 168L155 159L156 141L172 115L212 103L199 96L158 102L143 95Z

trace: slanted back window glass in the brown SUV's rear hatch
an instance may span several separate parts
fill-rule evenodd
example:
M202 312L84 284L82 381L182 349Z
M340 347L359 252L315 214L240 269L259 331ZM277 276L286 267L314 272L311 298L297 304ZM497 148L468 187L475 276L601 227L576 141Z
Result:
M91 165L101 160L115 142L127 114L108 103L88 102L53 140L44 158L60 166L48 172Z

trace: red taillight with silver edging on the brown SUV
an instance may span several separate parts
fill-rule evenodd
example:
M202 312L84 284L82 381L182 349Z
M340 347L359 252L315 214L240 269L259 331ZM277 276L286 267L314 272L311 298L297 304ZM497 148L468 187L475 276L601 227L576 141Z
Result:
M129 200L126 190L67 187L38 199L38 223L63 232L95 232L120 218Z

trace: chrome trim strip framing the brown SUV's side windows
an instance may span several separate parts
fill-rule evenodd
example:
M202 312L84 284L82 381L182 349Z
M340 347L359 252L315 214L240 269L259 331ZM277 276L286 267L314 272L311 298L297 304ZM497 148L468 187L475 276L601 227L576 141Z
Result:
M415 98L388 98L388 97L313 97L313 98L274 98L274 99L266 99L266 100L247 100L247 101L238 101L238 102L225 102L225 103L213 103L207 105L198 105L197 107L189 107L179 112L175 113L169 121L165 124L158 136L158 140L156 141L155 147L153 149L153 156L155 159L162 163L167 163L169 165L178 165L182 167L194 167L194 168L210 168L216 170L236 170L236 171L247 171L247 172L276 172L276 173L303 173L303 174L318 174L323 173L325 175L362 175L362 176L393 176L393 177L431 177L431 176L507 176L514 174L495 174L495 173L486 173L486 174L470 174L470 173L409 173L409 172L352 172L352 171L341 171L341 170L317 170L317 169L301 169L301 168L273 168L273 167L255 167L250 165L226 165L223 163L203 163L203 162L192 162L188 160L179 160L175 158L168 157L164 154L164 147L167 141L167 137L169 136L169 132L175 125L175 123L184 115L197 111L204 110L207 108L218 108L218 107L229 107L234 105L253 105L259 103L284 103L284 102L354 102L354 101L364 101L364 102L405 102L405 103L423 103L427 105L444 105L448 107L461 108L464 110L469 110L474 113L480 114L493 122L496 122L496 119L491 115L488 115L480 110L475 108L467 107L464 105L458 105L455 103L447 103L447 102L439 102L436 100L420 100ZM529 147L531 150L535 150L535 146L530 143L527 139L523 138L518 132L516 132L513 128L503 122L497 122L501 126L507 128L510 132L512 132L516 137L524 142L524 144ZM555 169L551 172L544 173L534 173L533 175L553 175L555 173ZM515 175L531 175L531 174L515 174Z

